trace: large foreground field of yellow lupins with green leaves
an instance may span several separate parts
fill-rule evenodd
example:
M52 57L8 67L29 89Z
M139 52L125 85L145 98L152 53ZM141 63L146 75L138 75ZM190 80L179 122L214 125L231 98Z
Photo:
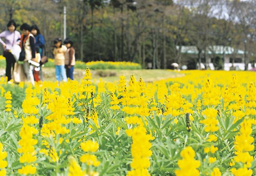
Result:
M256 175L256 74L0 80L0 176Z

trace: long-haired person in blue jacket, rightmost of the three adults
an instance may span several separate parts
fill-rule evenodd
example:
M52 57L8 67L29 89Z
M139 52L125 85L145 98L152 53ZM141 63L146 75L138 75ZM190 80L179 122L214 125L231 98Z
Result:
M44 51L44 44L45 44L44 37L40 33L40 30L38 29L37 25L32 25L30 32L34 35L34 37L36 39L36 47L39 47L39 53L40 53L40 56L42 57L43 51ZM39 68L39 77L40 77L40 80L43 81L43 72L42 72L41 66Z

